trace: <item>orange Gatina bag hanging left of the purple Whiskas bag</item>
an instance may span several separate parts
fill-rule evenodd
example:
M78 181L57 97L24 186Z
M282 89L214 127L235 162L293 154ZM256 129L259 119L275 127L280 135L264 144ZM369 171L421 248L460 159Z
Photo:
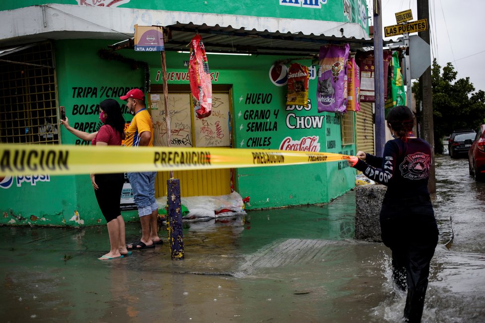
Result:
M288 94L286 96L286 104L288 106L304 106L308 105L308 67L299 63L290 65L288 71Z

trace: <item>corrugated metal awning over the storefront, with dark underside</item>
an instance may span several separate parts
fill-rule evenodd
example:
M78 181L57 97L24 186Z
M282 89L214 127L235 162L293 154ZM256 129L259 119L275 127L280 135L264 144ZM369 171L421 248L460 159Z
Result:
M164 27L166 33L166 51L188 51L190 40L194 35L202 34L206 52L211 53L244 53L255 55L311 55L318 54L324 44L350 45L351 51L373 47L372 39L357 39L336 35L305 35L303 32L281 33L268 30L258 31L244 27L197 25L192 22ZM342 28L343 33L343 28ZM384 45L393 41L385 41ZM110 46L113 50L132 48L133 39Z

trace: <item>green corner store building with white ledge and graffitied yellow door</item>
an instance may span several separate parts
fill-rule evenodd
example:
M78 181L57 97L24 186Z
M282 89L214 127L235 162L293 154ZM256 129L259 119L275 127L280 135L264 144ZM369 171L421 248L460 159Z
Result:
M1 143L88 144L60 128L57 107L83 131L100 126L99 103L127 89L148 92L155 142L166 145L159 53L108 46L133 35L133 25L161 25L166 41L172 145L288 149L354 154L356 115L317 113L317 62L325 43L362 47L367 36L363 0L326 1L92 1L0 5ZM94 5L97 4L97 5ZM103 4L103 6L100 6ZM190 10L187 12L185 10ZM304 17L305 19L295 19ZM190 107L188 43L200 33L213 76L213 114L198 120ZM119 46L122 47L121 43ZM307 108L285 104L285 70L275 62L311 66ZM120 102L123 104L123 102ZM123 105L124 111L127 112ZM360 112L359 112L360 113ZM367 131L372 128L368 118ZM364 114L361 114L361 117ZM125 119L131 115L124 114ZM359 128L358 126L358 128ZM359 136L361 137L361 136ZM302 149L301 148L301 149ZM231 188L250 196L251 208L325 203L354 186L346 162L176 172L182 195L222 195ZM166 173L157 194L165 195ZM89 176L13 176L0 184L0 223L89 225L104 222ZM134 211L123 212L136 217Z

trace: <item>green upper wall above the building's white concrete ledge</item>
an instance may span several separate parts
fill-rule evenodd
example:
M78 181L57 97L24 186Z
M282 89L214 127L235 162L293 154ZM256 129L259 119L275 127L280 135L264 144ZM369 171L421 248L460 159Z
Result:
M110 2L113 1L53 0L47 3L107 6ZM45 3L46 1L40 0L1 1L0 10L10 10ZM114 3L111 6L142 10L187 11L256 17L354 22L359 23L365 31L368 31L368 19L366 18L368 14L365 0L127 0ZM133 24L135 23L140 25L156 25L157 21L153 21L148 12L140 12L140 19ZM319 34L320 32L316 30L315 34Z

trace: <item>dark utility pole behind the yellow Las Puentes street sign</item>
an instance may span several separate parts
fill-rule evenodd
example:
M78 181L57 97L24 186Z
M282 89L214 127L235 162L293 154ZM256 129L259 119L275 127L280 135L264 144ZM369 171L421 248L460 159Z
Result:
M429 21L428 0L418 1L418 19L427 19ZM419 32L418 36L421 37L426 43L430 44L429 33L430 31L428 29L428 30ZM423 91L422 92L423 122L421 124L422 129L420 132L420 136L431 145L431 148L432 148L431 152L433 155L431 159L431 167L429 169L428 190L429 190L429 193L436 193L436 173L434 169L433 91L431 87L431 66L426 68L423 75L421 75L420 88Z

